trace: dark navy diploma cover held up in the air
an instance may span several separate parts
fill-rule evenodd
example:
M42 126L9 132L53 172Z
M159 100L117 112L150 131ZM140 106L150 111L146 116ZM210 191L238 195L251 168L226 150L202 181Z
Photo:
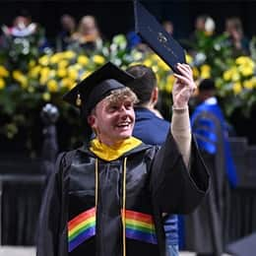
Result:
M186 63L181 45L166 32L142 4L134 0L135 30L175 73L177 63Z

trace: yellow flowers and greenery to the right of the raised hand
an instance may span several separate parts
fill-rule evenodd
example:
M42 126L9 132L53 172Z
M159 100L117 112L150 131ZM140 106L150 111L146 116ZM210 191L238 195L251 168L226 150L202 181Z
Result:
M239 109L248 117L256 100L256 38L251 40L250 55L234 56L227 36L201 33L193 45L190 65L196 80L214 78L217 96L226 117Z

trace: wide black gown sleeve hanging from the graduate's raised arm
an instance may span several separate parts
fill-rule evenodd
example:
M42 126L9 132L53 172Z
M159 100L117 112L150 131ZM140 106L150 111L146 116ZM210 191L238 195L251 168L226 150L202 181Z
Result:
M206 195L210 176L192 137L189 170L170 133L152 164L151 191L160 212L191 213Z

